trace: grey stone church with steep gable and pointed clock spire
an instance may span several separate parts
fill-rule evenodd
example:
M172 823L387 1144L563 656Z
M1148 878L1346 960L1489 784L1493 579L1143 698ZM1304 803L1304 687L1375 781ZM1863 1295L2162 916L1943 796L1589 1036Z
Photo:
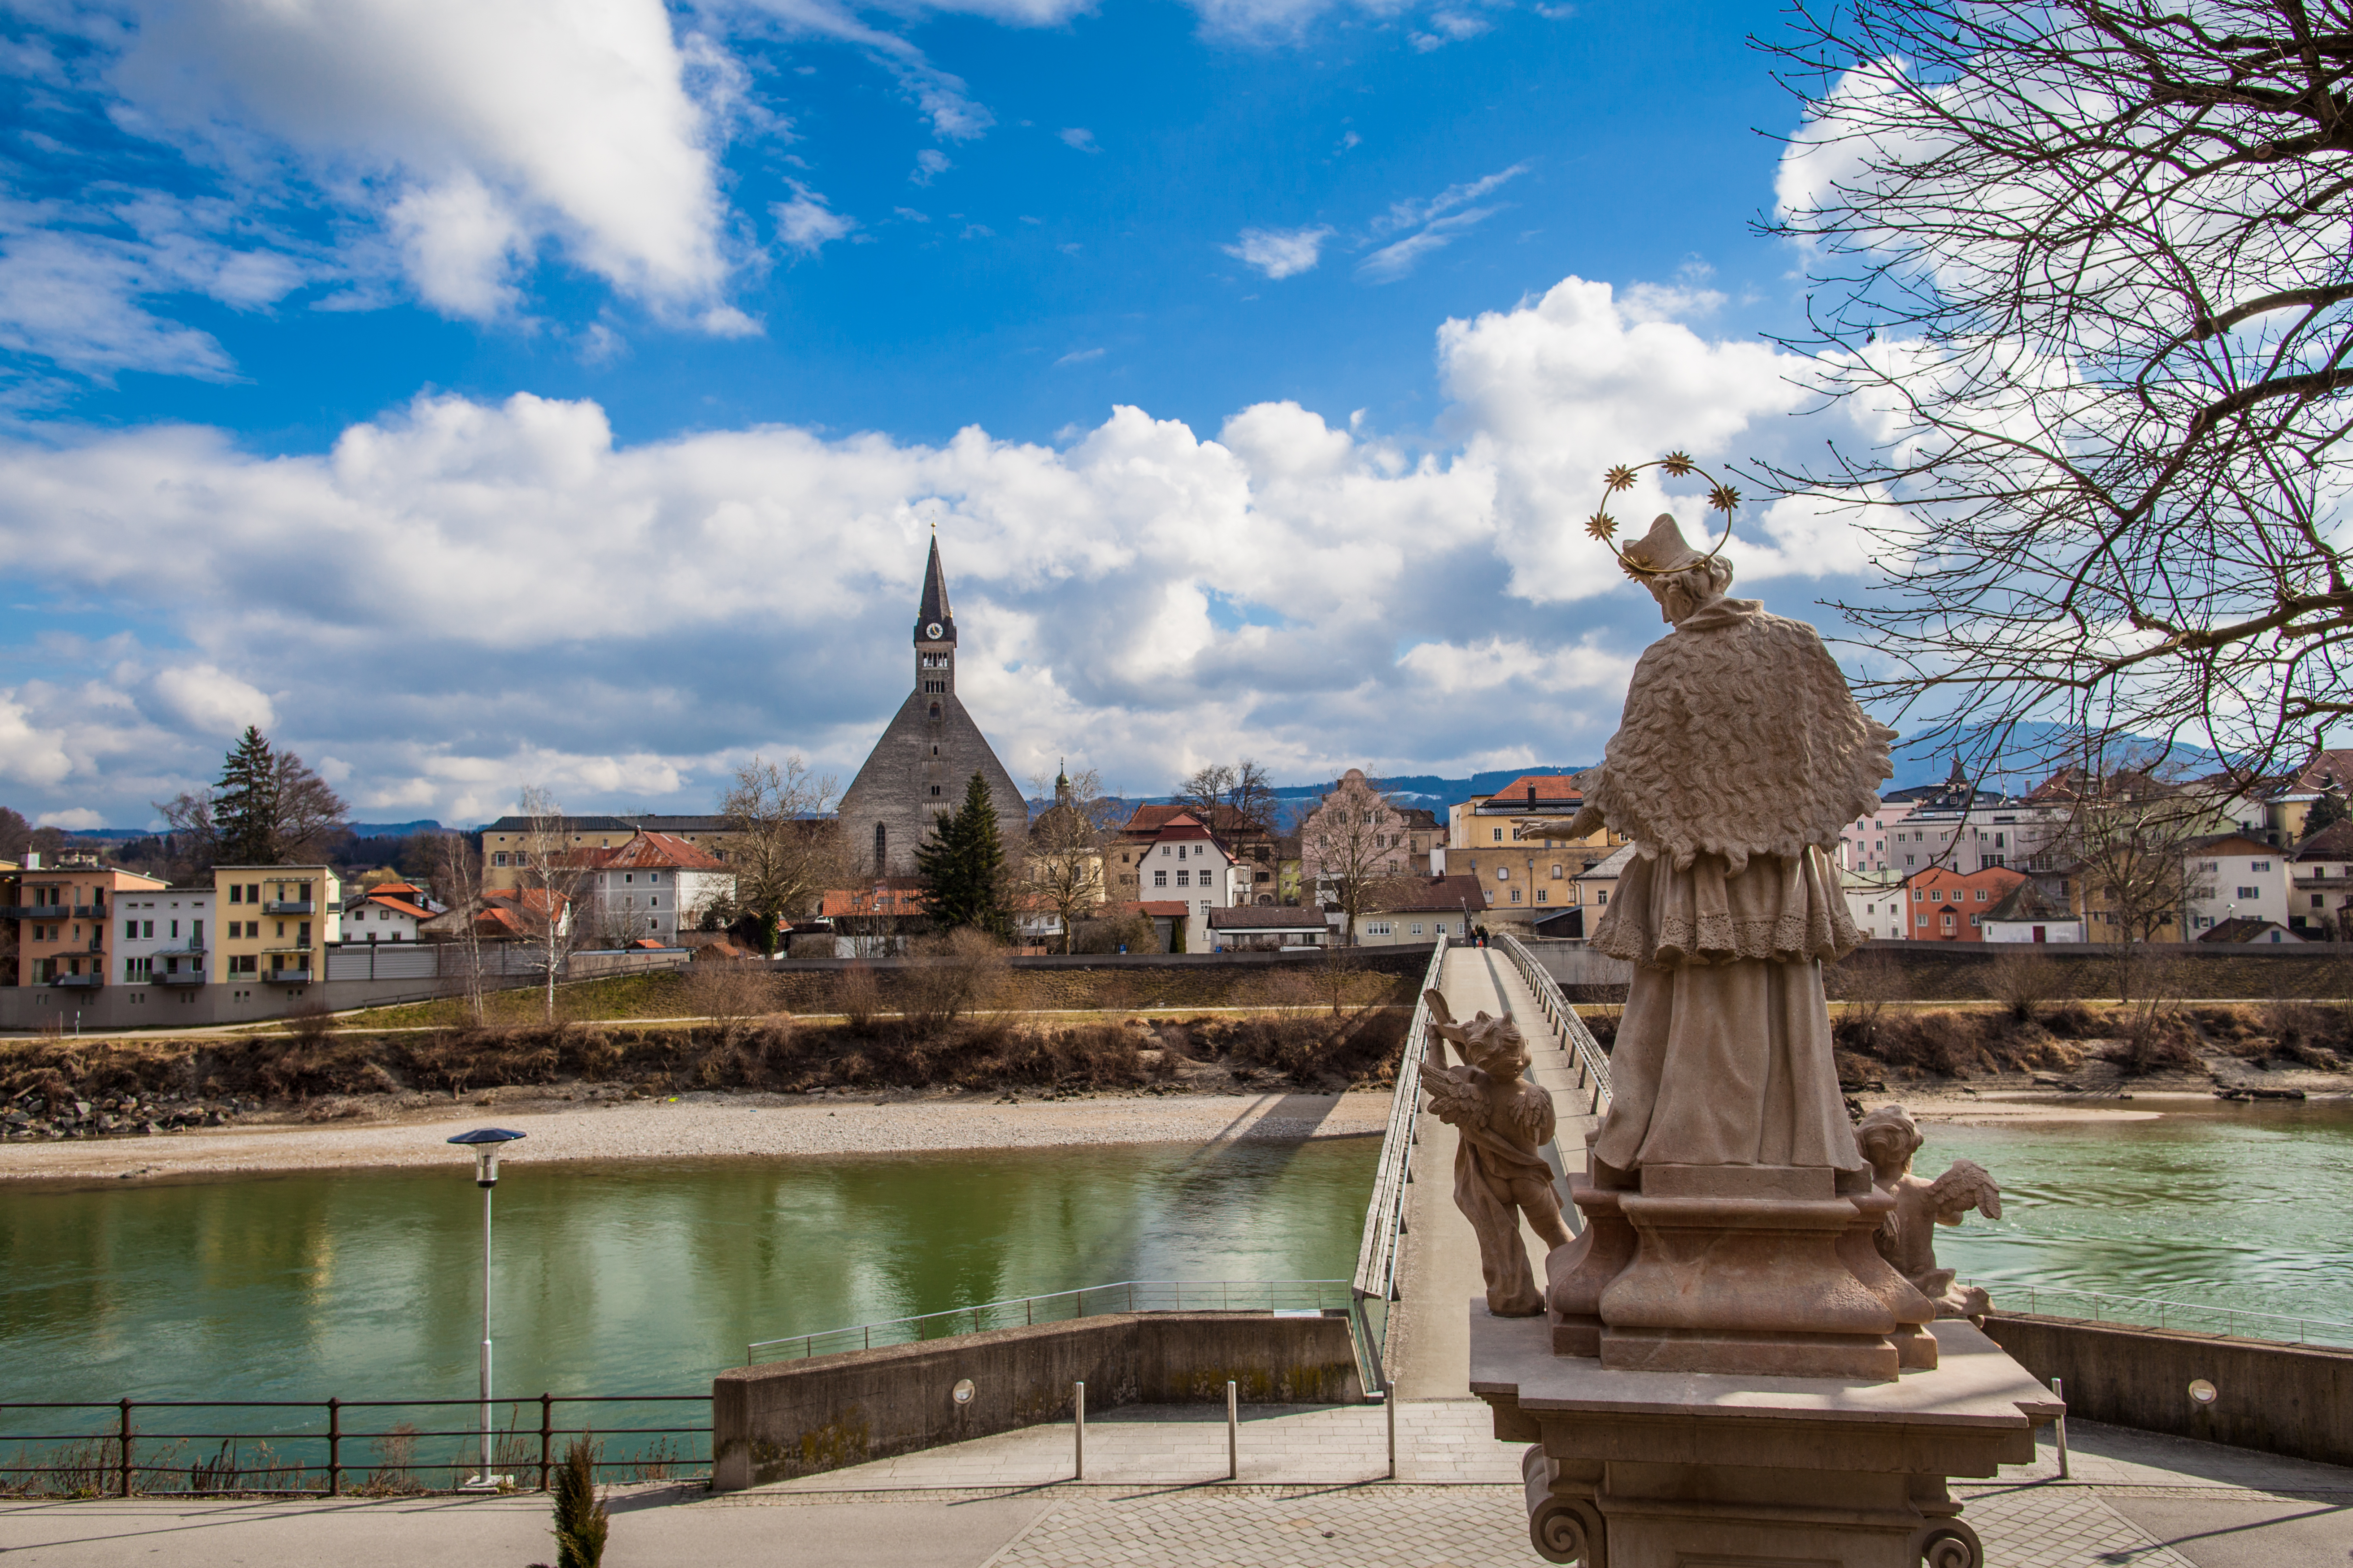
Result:
M955 698L955 614L934 534L915 609L915 689L842 792L849 849L875 877L913 877L915 846L929 837L934 818L965 804L965 780L974 771L988 780L1007 858L1019 856L1028 839L1028 802Z

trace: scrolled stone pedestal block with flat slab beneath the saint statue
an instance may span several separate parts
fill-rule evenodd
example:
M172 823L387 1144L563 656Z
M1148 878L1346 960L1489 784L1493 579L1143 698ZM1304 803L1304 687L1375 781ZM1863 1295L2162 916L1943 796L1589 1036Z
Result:
M1567 1251L1567 1248L1562 1248ZM1628 1371L1471 1302L1471 1392L1527 1455L1537 1554L1581 1568L1984 1568L1948 1476L2035 1458L2061 1403L1967 1321L1889 1380Z

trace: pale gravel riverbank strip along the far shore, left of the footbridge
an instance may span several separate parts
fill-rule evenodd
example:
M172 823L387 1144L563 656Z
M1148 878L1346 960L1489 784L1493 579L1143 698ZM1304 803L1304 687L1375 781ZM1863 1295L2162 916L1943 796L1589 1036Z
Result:
M1031 1150L1075 1143L1292 1143L1377 1135L1388 1091L1247 1095L746 1095L567 1103L504 1091L327 1124L252 1119L146 1138L9 1143L0 1180L186 1178L464 1161L475 1126L525 1133L513 1159L748 1159Z

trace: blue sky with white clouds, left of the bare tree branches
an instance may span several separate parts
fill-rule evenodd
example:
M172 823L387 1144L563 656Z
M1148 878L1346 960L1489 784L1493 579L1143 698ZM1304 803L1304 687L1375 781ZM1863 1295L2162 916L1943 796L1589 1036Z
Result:
M16 0L0 785L136 825L242 722L362 818L847 780L932 524L1016 776L1595 757L1659 630L1598 470L1833 433L1758 336L1772 26ZM1861 569L1788 503L1734 559Z

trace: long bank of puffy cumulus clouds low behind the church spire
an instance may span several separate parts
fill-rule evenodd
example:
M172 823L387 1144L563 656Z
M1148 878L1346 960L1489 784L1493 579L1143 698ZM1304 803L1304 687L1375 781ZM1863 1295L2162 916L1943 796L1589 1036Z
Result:
M1242 750L1301 780L1598 757L1657 635L1569 522L1602 468L1828 428L1781 428L1769 346L1577 277L1447 322L1438 357L1435 447L1294 402L1214 433L1118 407L1059 447L793 425L626 444L598 404L532 395L419 397L315 456L188 425L0 444L0 569L151 639L61 646L45 658L80 684L0 693L0 776L19 809L134 823L254 722L346 762L369 813L480 820L527 780L706 809L753 750L847 780L906 693L934 524L960 689L1016 776L1064 755L1129 790ZM1697 489L1619 510L1704 527ZM1732 557L1744 585L1805 595L1852 541L1781 503Z

